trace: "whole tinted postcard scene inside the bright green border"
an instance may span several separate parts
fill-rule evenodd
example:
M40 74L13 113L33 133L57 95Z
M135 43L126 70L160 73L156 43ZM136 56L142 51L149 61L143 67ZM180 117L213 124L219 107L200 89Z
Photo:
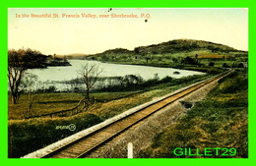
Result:
M9 158L248 158L247 8L8 8Z

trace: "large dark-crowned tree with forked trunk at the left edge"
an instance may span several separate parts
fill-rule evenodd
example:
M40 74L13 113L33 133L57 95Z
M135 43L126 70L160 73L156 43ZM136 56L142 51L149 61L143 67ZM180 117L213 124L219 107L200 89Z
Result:
M20 85L28 69L45 68L46 57L39 51L28 49L8 50L8 83L12 102L17 104L22 89Z

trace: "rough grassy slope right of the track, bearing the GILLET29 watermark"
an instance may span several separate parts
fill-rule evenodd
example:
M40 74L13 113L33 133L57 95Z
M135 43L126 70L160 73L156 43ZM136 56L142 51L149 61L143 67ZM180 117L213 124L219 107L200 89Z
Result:
M231 157L248 157L247 74L236 71L220 83L204 101L196 103L185 116L157 135L153 143L140 152L140 157L203 157L176 156L173 153L176 147L198 148L201 153L207 147L236 148L237 154Z

